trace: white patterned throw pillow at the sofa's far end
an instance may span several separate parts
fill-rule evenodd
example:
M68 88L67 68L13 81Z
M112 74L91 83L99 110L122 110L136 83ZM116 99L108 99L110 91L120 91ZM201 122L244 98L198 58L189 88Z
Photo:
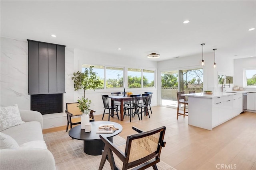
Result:
M0 108L0 131L25 123L20 117L18 105Z

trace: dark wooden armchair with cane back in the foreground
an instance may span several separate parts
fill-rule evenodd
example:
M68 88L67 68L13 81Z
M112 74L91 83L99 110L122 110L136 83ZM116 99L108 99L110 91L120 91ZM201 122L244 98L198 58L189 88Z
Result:
M164 133L166 127L143 132L132 127L138 134L130 135L124 145L116 146L104 135L100 139L105 143L102 151L99 170L102 170L106 160L110 163L112 170L127 170L129 168L144 170L153 167L157 170L156 164L160 162L162 147L165 147Z

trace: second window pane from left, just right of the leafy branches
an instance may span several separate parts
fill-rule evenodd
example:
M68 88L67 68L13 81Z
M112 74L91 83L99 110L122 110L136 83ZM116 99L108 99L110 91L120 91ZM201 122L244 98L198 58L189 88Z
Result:
M119 88L124 86L124 68L106 67L106 88Z

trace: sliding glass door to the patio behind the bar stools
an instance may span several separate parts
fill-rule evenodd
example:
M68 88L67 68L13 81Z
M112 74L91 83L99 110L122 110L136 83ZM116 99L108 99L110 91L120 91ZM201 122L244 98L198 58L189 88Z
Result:
M162 106L177 107L177 92L202 92L203 68L172 70L161 72L161 103Z

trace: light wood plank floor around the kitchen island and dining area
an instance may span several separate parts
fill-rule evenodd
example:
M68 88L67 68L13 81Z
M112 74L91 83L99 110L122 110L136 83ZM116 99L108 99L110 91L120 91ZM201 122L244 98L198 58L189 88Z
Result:
M110 121L123 126L119 135L124 139L136 133L132 126L143 131L166 126L166 147L160 159L177 170L256 170L256 113L245 112L208 131L188 125L188 117L179 116L177 120L176 109L156 106L152 112L150 118L143 116L140 121L136 115L131 123L129 117ZM94 117L96 121L102 119L102 115ZM104 121L107 120L105 115ZM44 129L44 133L64 129L65 126Z

